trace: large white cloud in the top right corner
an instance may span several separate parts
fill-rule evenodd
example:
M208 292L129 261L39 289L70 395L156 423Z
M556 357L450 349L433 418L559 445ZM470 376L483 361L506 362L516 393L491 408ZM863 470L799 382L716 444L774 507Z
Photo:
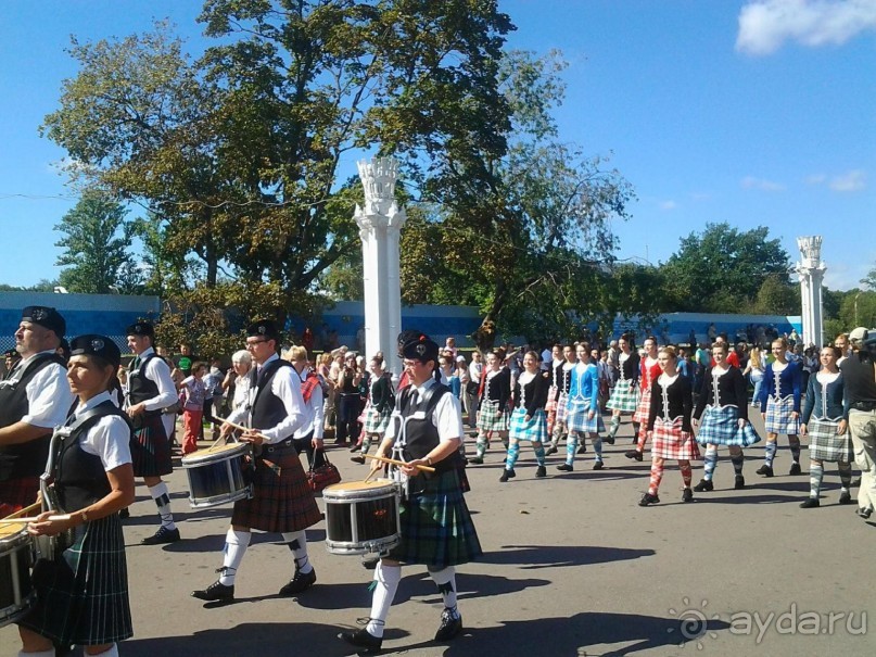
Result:
M876 30L874 0L752 0L739 12L736 50L770 54L789 39L838 46L867 30Z

